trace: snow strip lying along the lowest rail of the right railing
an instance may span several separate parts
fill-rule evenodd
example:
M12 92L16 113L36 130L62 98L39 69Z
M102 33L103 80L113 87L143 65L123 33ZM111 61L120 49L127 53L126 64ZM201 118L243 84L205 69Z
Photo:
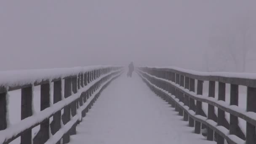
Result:
M145 73L142 71L139 71L141 73ZM147 73L145 73L147 74ZM145 77L143 77L141 74L139 74L144 80L147 81L147 83L149 83L150 85L154 86L155 88L157 88L158 90L162 91L161 88L158 88L156 85L152 84L149 80L147 80ZM149 75L149 74L147 74ZM151 75L150 75L151 76ZM155 76L152 76L155 77ZM160 79L160 78L157 78ZM175 84L175 83L174 83ZM173 85L174 85L173 84ZM178 86L178 85L177 85ZM166 91L162 91L164 93L166 93L167 95L171 96L173 99L175 98L175 96L171 95L171 93L168 93ZM216 132L218 132L219 134L224 135L224 139L226 139L227 141L231 142L231 143L237 143L237 141L241 142L241 143L237 143L237 144L244 144L245 141L243 139L240 139L237 136L232 136L232 139L229 139L229 130L227 128L224 128L223 126L217 126L217 123L213 120L208 120L207 117L203 117L201 115L195 115L195 112L193 110L188 110L188 107L184 107L184 104L179 102L179 100L175 99L175 101L177 101L177 104L179 104L179 107L183 107L187 113L189 114L189 116L193 117L193 119L197 119L199 120L201 123L204 124L208 124L208 126L210 128L216 128Z

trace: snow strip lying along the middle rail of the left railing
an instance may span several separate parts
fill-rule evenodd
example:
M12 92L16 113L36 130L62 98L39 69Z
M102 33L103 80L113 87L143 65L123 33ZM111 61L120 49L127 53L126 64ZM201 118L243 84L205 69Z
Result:
M118 70L117 70L118 71ZM55 112L59 111L60 109L63 109L67 104L70 104L72 101L75 101L76 99L80 98L80 95L82 92L88 90L92 85L94 85L96 82L98 82L99 80L101 80L101 78L106 77L107 75L110 75L112 73L115 73L117 71L113 71L110 72L108 74L102 75L101 77L99 77L98 79L94 80L93 82L89 83L88 85L86 85L84 88L81 88L77 93L73 94L72 96L69 96L66 99L63 99L59 102L57 102L56 104L54 104L51 107L48 107L46 109L44 109L43 111L39 111L35 114L33 114L31 117L27 117L24 120L18 121L20 119L20 113L19 115L19 119L16 119L16 123L13 125L8 126L8 128L6 128L3 131L0 131L0 143L3 143L5 141L5 139L10 139L13 136L16 136L18 133L20 133L21 131L26 130L29 127L32 127L33 125L37 125L40 122L42 122L46 117L50 117L51 115L53 115ZM20 92L16 91L16 92ZM37 91L38 92L38 91ZM40 93L40 91L39 91ZM17 94L17 93L16 93ZM38 94L38 93L37 93ZM20 95L20 93L19 93ZM40 98L40 97L39 97ZM18 101L19 100L19 101ZM40 99L37 99L37 101L39 100L39 105L40 105ZM13 99L13 101L11 102L19 102L20 103L20 97L19 99ZM33 101L34 102L34 101ZM12 105L12 108L15 108L15 110L17 111L17 107ZM10 106L8 106L8 109L10 108ZM36 107L37 109L40 109L40 107ZM19 108L18 108L19 109ZM38 110L36 110L38 111ZM8 112L9 113L9 112ZM34 133L34 132L33 132ZM17 140L18 141L18 140Z

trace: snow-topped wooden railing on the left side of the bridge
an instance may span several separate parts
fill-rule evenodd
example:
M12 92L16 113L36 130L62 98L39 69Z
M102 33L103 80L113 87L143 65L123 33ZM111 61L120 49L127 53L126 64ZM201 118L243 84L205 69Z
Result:
M19 136L21 144L68 143L101 91L122 71L121 67L84 67L0 73L0 144ZM37 85L40 85L41 111L33 114L32 93ZM18 89L21 89L21 121L8 125L8 92ZM51 123L50 117L53 117ZM40 130L33 139L32 128L37 125Z

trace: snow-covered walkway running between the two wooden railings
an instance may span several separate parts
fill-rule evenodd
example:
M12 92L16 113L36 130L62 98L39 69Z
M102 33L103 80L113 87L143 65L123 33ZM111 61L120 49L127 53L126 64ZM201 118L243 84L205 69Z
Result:
M137 74L122 75L101 93L71 144L216 144L182 119Z

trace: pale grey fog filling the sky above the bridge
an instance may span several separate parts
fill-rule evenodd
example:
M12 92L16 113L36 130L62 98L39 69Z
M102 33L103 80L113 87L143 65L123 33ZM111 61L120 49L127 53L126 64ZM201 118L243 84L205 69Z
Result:
M256 72L255 0L1 0L0 70Z

